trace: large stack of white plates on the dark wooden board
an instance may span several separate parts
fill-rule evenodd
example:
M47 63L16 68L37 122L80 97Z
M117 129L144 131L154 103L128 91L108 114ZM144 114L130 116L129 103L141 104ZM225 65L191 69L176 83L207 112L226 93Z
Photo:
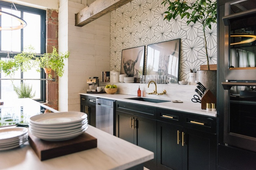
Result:
M88 128L87 114L78 111L45 113L30 118L29 131L45 141L75 138Z

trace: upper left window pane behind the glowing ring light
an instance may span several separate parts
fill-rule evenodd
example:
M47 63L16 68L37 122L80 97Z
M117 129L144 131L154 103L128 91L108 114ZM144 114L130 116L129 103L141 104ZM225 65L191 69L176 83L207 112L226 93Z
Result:
M20 17L20 11L2 8L3 11L12 13ZM1 15L2 27L10 27L20 25L20 22L7 16ZM1 31L1 49L2 51L21 52L21 30L2 30Z

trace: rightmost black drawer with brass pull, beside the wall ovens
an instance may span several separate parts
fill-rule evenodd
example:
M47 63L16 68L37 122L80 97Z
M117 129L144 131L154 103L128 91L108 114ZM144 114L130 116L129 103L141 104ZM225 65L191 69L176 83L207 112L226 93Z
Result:
M216 134L216 117L183 113L182 126Z

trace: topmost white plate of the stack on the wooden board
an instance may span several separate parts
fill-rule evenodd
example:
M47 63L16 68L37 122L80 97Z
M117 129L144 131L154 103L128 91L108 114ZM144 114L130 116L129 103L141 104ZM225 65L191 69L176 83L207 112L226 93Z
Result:
M87 114L79 111L45 113L32 116L30 123L41 126L66 125L82 122L86 118Z

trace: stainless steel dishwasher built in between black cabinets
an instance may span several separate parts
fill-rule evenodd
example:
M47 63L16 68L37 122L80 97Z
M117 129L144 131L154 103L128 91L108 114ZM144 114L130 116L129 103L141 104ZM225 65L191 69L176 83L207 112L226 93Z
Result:
M96 99L96 128L116 135L116 101L109 99Z

